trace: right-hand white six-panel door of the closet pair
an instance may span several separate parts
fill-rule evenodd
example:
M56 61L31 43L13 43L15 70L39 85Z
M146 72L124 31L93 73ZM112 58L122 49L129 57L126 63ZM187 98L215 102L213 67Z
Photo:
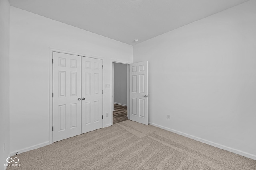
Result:
M102 128L102 60L82 57L82 133Z

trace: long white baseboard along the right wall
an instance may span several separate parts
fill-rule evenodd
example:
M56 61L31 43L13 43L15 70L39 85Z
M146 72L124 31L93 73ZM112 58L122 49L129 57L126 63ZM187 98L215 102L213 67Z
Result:
M253 159L253 160L256 160L256 155L254 154L250 154L250 153L247 153L247 152L244 152L242 150L238 150L238 149L234 149L234 148L231 148L231 147L227 147L227 146L224 146L224 145L221 145L221 144L218 144L218 143L215 143L215 142L212 142L212 141L208 141L208 140L205 140L205 139L202 139L200 137L196 137L196 136L193 136L193 135L189 135L187 133L183 133L183 132L180 132L180 131L176 131L174 129L170 129L168 127L164 127L164 126L161 126L161 125L157 125L155 123L151 123L151 122L148 122L150 125L152 126L155 126L155 127L159 127L161 129L164 129L164 130L167 130L167 131L170 131L170 132L173 132L173 133L177 133L179 135L182 135L182 136L185 136L185 137L188 137L188 138L191 138L191 139L194 139L196 141L200 141L202 143L206 143L208 145L211 145L211 146L214 146L214 147L217 147L217 148L220 148L220 149L223 149L223 150L227 150L229 152L232 152L232 153L235 153L235 154L239 154L241 156L244 156L246 158L250 158L250 159Z

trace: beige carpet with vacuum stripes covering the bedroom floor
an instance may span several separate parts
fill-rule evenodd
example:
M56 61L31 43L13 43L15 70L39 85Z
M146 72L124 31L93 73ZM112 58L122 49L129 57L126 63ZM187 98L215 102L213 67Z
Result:
M124 121L31 150L8 170L256 170L256 161L151 125Z

